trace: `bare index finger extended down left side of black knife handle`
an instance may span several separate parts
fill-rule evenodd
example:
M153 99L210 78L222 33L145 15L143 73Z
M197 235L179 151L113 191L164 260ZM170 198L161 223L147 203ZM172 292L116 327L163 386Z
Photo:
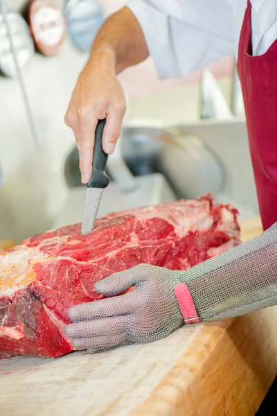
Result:
M97 117L92 114L79 115L79 135L76 139L79 150L80 171L82 174L82 183L89 182L92 173L93 147Z

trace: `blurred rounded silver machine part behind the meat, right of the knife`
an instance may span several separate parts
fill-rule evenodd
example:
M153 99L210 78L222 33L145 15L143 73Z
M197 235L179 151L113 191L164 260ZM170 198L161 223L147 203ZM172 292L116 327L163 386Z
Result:
M165 175L177 198L218 193L224 170L213 152L198 137L178 128L155 128L132 123L122 133L122 153L134 175Z

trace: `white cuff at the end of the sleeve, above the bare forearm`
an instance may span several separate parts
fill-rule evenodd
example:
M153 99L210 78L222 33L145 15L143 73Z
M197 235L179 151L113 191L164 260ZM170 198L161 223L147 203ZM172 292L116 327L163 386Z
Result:
M129 0L126 6L139 21L159 78L181 77L174 49L170 44L168 15L141 0Z

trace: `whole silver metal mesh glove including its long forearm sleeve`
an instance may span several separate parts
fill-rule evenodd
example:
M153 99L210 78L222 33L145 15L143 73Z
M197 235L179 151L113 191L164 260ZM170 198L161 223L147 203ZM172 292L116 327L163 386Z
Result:
M168 336L186 320L190 301L202 320L272 306L277 304L276 265L277 225L185 272L141 264L98 281L96 291L108 296L135 288L125 295L73 307L69 317L74 323L66 327L66 334L76 349L98 352ZM178 303L175 292L180 284L185 284L191 297L182 299L179 293Z

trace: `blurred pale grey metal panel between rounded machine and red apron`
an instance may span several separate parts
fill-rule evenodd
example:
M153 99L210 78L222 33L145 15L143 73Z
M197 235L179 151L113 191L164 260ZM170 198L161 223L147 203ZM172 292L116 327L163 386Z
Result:
M222 203L232 203L241 218L259 213L255 181L244 117L233 120L206 120L179 125L184 136L198 137L222 166L224 182L214 195Z

